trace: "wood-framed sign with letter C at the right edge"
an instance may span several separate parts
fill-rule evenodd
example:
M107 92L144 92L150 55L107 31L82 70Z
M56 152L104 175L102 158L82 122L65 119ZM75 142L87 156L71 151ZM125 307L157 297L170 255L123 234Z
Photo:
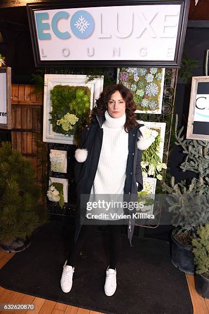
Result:
M209 141L209 76L193 76L186 139Z

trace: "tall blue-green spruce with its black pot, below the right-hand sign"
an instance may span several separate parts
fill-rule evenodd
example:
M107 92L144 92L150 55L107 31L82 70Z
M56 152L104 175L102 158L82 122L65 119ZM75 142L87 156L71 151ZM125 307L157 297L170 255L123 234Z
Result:
M175 137L176 145L183 148L186 158L181 163L182 171L192 171L196 174L190 182L183 180L175 183L174 177L171 185L163 184L162 189L169 193L166 195L169 211L174 214L172 224L176 227L171 234L172 252L171 260L175 267L194 274L192 240L196 230L204 225L209 217L207 194L209 192L209 143L196 140L185 140L182 135L183 127L177 134L178 116L176 115Z

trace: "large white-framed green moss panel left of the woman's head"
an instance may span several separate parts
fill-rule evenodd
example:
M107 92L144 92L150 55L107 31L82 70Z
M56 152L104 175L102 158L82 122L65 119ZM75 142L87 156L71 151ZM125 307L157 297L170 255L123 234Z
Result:
M103 76L45 74L43 141L77 144L103 89Z

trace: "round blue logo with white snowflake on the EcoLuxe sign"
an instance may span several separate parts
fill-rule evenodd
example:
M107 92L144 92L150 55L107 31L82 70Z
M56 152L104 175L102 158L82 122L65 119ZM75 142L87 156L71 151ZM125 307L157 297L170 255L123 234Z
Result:
M87 38L94 30L94 19L89 12L79 10L73 14L70 27L76 37Z

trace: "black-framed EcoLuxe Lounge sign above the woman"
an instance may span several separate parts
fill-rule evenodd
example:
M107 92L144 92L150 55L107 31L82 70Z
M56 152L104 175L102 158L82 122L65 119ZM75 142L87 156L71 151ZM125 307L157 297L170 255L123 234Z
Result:
M190 0L27 4L37 67L179 68Z

